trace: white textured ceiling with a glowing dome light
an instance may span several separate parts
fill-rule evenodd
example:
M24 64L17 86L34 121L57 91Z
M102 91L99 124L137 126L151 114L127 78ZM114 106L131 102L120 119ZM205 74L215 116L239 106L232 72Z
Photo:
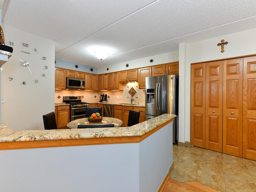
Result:
M4 0L2 23L55 42L55 57L102 67L256 28L255 0ZM97 47L108 48L98 60Z

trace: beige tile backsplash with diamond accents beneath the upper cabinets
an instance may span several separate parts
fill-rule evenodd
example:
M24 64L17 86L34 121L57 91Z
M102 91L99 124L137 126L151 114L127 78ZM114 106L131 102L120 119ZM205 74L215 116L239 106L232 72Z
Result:
M123 91L85 91L85 90L55 90L55 103L62 103L63 96L82 96L83 102L93 103L100 101L100 94L104 93L108 96L108 103L130 103L130 89L133 88L133 103L145 104L145 90L139 89L138 82L124 83ZM119 98L118 98L119 97Z

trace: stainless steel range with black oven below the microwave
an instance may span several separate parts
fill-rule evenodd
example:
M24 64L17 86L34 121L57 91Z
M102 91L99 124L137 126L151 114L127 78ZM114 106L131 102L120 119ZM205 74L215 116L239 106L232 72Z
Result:
M63 102L70 104L70 121L86 117L89 103L82 102L82 96L64 96Z

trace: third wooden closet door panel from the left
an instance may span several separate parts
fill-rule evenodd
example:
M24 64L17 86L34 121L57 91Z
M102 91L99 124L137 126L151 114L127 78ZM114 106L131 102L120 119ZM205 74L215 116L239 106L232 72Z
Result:
M223 152L242 157L243 59L223 62Z

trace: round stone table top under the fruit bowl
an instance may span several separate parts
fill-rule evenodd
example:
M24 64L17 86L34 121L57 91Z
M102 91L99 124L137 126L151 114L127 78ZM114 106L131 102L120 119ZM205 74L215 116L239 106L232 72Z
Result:
M77 129L78 125L100 125L100 124L114 124L114 127L120 127L123 122L120 119L113 117L102 117L101 122L91 123L88 122L88 118L80 118L73 121L70 121L67 126L70 129Z

